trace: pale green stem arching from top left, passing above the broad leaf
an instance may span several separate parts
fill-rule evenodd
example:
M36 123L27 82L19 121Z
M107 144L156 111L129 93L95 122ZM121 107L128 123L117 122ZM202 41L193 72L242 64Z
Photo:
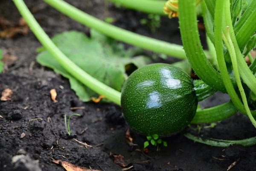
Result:
M44 0L50 6L54 7L63 14L73 18L79 23L88 26L90 28L96 29L98 32L103 33L111 38L114 38L125 43L141 47L143 49L148 49L153 52L160 52L166 55L170 55L175 58L185 59L186 54L183 50L183 46L168 43L165 41L160 41L154 38L149 38L147 36L139 35L130 32L125 29L113 26L109 23L105 23L74 6L64 2L63 0Z

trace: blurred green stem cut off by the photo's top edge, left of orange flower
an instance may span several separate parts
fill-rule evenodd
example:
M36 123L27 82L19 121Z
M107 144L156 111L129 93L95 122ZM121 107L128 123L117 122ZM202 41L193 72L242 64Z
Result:
M163 12L164 4L166 0L108 0L118 5L124 6L128 9L134 9L137 11L166 15Z

